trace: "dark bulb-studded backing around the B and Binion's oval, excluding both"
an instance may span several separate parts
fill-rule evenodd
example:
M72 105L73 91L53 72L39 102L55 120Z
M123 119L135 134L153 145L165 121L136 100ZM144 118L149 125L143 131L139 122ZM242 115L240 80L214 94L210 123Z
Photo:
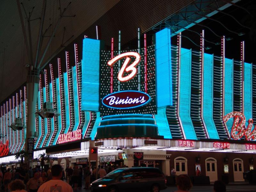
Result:
M126 52L136 52L138 50L126 50L122 51L122 53ZM151 100L140 107L136 108L126 108L126 109L119 109L119 108L110 108L102 104L102 100L105 96L110 94L110 72L111 67L108 66L108 61L111 59L111 52L110 51L102 51L101 52L101 65L100 65L100 116L107 116L107 115L115 115L115 114L156 114L156 77L155 77L155 46L151 45L147 48L147 94L151 97ZM117 51L114 51L114 57L118 55ZM135 57L130 57L130 63L135 61ZM144 49L140 49L140 63L141 68L144 68ZM124 64L125 58L120 59L121 66ZM113 66L113 93L118 92L118 84L120 84L120 91L138 91L139 90L139 74L137 73L133 78L129 79L128 81L121 82L118 79L119 69L117 63ZM138 72L138 71L137 71ZM124 71L123 76L128 76L131 72L127 73ZM144 84L144 70L140 70L140 91L144 94L145 93L145 84ZM118 81L120 83L118 83ZM126 94L124 92L124 94ZM128 95L127 95L128 96ZM142 95L140 95L142 96ZM126 98L126 97L125 97ZM131 97L129 97L130 99Z

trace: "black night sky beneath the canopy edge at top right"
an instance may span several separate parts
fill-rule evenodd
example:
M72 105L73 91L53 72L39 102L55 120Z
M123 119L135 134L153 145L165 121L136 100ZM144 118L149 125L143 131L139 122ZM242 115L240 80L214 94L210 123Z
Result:
M255 0L242 0L238 2L237 5L244 7L248 12L244 9L236 7L234 5L230 6L229 8L225 9L224 12L232 15L236 20L238 20L242 25L249 27L245 28L238 24L236 20L226 14L217 13L212 16L212 19L220 21L226 28L231 31L240 33L243 32L245 35L238 36L237 34L228 31L224 28L220 23L206 19L202 21L200 24L210 27L217 35L232 37L233 39L230 41L226 41L226 58L234 58L235 60L240 60L240 42L244 41L245 43L245 51L244 57L245 62L248 63L256 63L256 53L255 53L255 44L256 44L256 1ZM193 31L201 33L202 29L204 29L205 39L208 41L212 41L214 43L220 42L221 39L218 36L215 36L209 29L195 25L189 28ZM183 31L182 35L188 36L191 38L196 44L200 44L200 36L191 31ZM175 42L175 38L172 38L173 42ZM205 47L212 47L209 50L205 50L207 53L214 53L216 55L220 55L221 45L214 45L208 42L205 42ZM191 41L187 38L182 37L182 47L185 48L192 48L195 50L199 50L199 47L194 45Z

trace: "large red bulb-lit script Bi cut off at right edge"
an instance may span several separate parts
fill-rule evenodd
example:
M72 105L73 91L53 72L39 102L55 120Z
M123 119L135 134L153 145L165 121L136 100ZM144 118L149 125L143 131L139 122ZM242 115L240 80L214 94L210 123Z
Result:
M244 114L240 112L232 112L232 113L228 113L223 117L223 121L225 125L226 125L226 122L233 117L235 119L231 129L231 137L233 139L240 139L241 137L245 136L246 140L255 140L256 126L252 130L253 120L252 119L248 120L248 126L246 128Z

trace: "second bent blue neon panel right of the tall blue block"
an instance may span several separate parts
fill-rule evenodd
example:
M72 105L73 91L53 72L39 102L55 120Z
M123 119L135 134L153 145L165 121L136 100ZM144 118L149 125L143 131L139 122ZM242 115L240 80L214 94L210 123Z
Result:
M209 139L220 139L213 121L213 55L204 53L203 118Z

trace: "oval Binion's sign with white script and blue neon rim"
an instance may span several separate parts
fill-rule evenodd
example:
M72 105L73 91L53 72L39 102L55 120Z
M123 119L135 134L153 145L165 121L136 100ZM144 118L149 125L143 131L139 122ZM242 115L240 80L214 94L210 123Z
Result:
M128 109L146 105L151 97L141 91L118 91L105 96L102 99L103 105L109 108Z

